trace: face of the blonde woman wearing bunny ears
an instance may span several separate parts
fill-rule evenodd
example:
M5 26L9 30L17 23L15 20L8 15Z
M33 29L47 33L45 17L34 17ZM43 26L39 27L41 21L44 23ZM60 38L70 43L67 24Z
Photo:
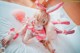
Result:
M38 24L46 25L49 22L49 15L45 11L41 11L41 13L37 17Z

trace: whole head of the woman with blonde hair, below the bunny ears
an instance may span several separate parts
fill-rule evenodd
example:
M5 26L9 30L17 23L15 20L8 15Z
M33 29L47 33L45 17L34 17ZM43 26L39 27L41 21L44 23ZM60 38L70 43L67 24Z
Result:
M47 23L50 20L49 14L47 14L45 11L40 10L34 15L35 21L42 23L42 25L47 25Z

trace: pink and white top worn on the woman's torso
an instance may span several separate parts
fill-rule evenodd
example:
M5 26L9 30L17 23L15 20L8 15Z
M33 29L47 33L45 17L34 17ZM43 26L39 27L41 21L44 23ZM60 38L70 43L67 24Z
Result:
M33 24L33 22L32 22L32 24ZM35 35L38 40L44 40L46 38L46 31L44 28L41 30L36 30L34 28L34 26L27 25L27 29L31 30L32 34Z

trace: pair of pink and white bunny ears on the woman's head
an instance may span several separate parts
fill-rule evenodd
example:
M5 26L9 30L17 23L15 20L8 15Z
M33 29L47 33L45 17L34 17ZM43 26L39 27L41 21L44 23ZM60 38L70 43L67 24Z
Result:
M57 10L58 8L60 8L64 3L61 2L59 4L57 4L57 6L55 8L52 8L52 9L48 9L46 7L44 7L42 4L39 3L39 0L36 0L35 1L35 4L38 6L38 8L40 8L41 10L44 10L46 11L46 13L51 13L51 12L54 12L55 10Z

